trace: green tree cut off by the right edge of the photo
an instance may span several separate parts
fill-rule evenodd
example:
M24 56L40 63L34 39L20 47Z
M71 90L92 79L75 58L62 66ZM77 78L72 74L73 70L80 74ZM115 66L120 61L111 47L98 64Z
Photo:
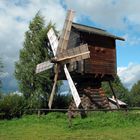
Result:
M132 106L140 106L140 80L132 86L130 97Z

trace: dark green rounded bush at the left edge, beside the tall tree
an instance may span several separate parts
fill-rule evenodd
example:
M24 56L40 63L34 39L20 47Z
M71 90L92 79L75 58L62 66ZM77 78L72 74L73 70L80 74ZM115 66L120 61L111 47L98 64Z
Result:
M0 114L2 119L21 117L24 113L26 102L23 96L17 94L3 95L0 100Z

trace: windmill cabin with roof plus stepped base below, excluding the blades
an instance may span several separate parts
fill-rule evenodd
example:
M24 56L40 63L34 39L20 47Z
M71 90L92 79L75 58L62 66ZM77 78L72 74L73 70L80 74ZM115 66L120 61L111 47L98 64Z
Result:
M112 93L115 94L111 81L117 74L116 40L124 41L123 38L110 34L106 30L72 23L67 48L76 48L80 44L87 44L90 51L88 59L75 61L68 67L73 81L77 83L76 88L81 97L83 108L87 108L87 106L110 108L101 83L109 82ZM63 73L60 79L65 79ZM114 96L116 97L116 95ZM89 101L87 101L87 97ZM71 110L75 108L74 103L70 108Z

